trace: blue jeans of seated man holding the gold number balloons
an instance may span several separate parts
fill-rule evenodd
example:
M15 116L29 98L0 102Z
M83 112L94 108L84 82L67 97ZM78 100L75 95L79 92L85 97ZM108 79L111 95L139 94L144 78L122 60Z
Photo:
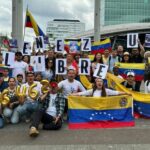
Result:
M31 117L32 113L38 109L38 106L38 101L26 102L23 105L19 105L13 112L11 122L16 124L23 116L26 116L27 118Z

